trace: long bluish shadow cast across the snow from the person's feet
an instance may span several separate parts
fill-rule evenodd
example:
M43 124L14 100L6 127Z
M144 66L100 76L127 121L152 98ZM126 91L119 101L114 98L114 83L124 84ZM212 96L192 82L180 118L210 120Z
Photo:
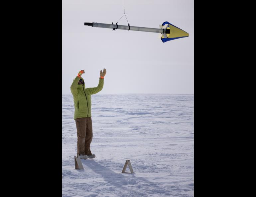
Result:
M128 187L130 189L140 192L146 192L147 194L163 194L165 192L170 192L164 188L159 187L157 183L150 182L142 177L136 177L134 173L129 174L129 176L124 175L123 173L121 173L121 171L120 173L116 173L113 170L108 169L101 164L98 164L95 160L82 161L82 164L92 169L95 173L100 174L107 182L106 185L113 185L115 187L119 187L120 189L127 188L127 186L129 185ZM127 167L127 170L129 170L129 167ZM141 185L143 185L142 188Z

